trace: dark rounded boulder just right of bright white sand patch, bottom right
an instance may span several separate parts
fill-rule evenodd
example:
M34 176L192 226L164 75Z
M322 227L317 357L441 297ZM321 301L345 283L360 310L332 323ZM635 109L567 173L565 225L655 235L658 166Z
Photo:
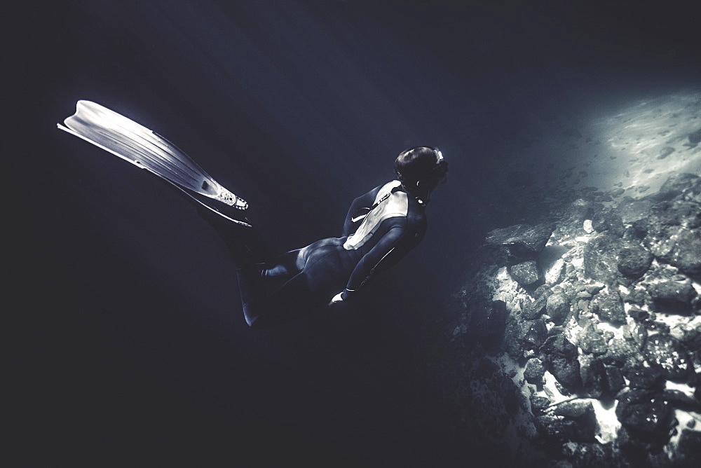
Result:
M665 444L672 428L672 408L653 390L632 389L619 394L615 415L631 436Z

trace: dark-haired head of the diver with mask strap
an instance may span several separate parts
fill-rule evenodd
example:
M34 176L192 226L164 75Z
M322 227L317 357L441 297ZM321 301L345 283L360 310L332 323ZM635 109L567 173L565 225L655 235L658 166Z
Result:
M397 156L394 168L404 188L428 194L446 180L448 163L439 149L415 146Z

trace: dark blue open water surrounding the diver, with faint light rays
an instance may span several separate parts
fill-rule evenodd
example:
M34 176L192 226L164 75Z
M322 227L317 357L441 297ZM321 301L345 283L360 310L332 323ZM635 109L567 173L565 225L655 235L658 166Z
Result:
M689 7L494 2L71 2L16 13L5 136L32 460L452 464L440 303L533 119L698 79ZM685 9L686 8L686 9ZM684 13L686 12L686 13ZM259 332L224 245L175 191L55 129L90 99L171 139L280 252L339 235L407 146L449 184L423 245L352 310ZM427 358L428 356L428 358ZM482 450L480 450L482 448ZM137 455L143 454L143 455ZM37 458L38 457L38 458ZM498 460L492 459L492 460Z

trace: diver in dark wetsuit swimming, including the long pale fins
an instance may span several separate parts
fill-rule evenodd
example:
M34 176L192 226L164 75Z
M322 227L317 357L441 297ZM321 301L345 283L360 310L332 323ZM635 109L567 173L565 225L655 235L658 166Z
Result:
M407 149L395 160L396 180L353 201L341 237L270 260L250 223L240 219L247 202L161 135L86 100L57 126L148 170L195 203L231 251L246 322L257 328L286 322L325 303L351 301L376 273L421 242L426 205L448 172L437 148Z

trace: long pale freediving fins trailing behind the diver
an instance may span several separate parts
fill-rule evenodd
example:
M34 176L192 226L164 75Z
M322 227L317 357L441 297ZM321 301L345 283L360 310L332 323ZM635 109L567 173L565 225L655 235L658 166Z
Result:
M67 118L64 124L65 126L59 123L57 127L137 167L153 172L225 218L250 226L222 213L217 209L217 203L210 206L210 203L205 202L199 195L237 210L248 208L248 203L243 198L234 195L212 179L175 144L143 125L100 104L85 100L76 104L76 113Z

